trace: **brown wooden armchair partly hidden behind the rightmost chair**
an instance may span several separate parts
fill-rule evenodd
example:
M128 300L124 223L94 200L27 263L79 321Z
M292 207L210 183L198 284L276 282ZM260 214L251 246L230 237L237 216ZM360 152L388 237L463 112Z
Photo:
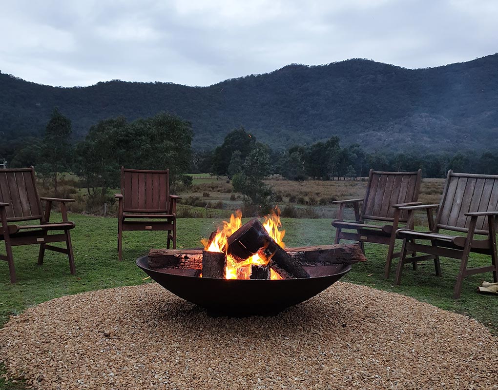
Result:
M394 253L396 229L399 223L405 223L407 227L413 226L413 221L407 219L408 212L401 210L401 206L421 204L421 202L417 202L421 181L421 170L416 172L376 172L371 169L364 199L332 202L340 205L337 219L332 221L332 226L336 228L334 243L339 244L341 239L359 241L364 253L364 242L389 245L384 270L384 277L387 279L392 259L400 256L400 253ZM360 211L361 202L363 202L363 207ZM347 203L353 204L354 221L343 220L344 207ZM367 223L366 220L385 223L375 225ZM355 231L343 231L344 229Z

